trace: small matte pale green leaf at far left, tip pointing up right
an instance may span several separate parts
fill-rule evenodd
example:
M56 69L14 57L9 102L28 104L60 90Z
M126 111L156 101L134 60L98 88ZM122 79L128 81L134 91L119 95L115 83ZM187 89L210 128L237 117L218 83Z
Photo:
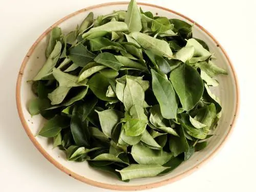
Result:
M69 93L70 89L71 88L59 86L52 93L49 93L48 98L52 101L51 104L55 105L61 103Z

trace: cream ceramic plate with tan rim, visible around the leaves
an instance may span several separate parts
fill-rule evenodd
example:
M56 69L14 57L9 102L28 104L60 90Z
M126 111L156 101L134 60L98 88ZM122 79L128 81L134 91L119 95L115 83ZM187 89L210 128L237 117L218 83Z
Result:
M52 143L49 143L47 138L40 136L34 137L34 135L38 133L40 127L44 124L45 119L40 115L31 118L26 107L28 101L35 97L31 91L31 84L28 83L27 80L32 79L36 75L46 60L45 49L51 29L55 26L59 26L63 33L68 33L74 30L77 24L80 24L84 17L86 17L91 11L94 13L95 17L97 17L98 15L112 13L114 10L127 10L127 4L128 3L125 2L109 3L82 9L62 18L47 29L35 41L22 63L17 80L16 101L20 119L28 136L42 155L44 155L56 167L70 176L91 185L118 190L139 190L174 182L199 168L199 166L214 155L224 143L230 134L232 125L236 119L239 103L236 75L234 74L230 60L223 48L215 38L201 26L198 24L194 25L194 37L200 38L207 43L211 52L214 52L215 56L218 58L216 64L228 72L228 76L223 75L218 77L220 86L212 90L222 101L223 115L217 127L216 136L209 140L208 146L203 151L196 153L188 161L182 163L168 175L135 179L129 183L125 183L113 178L111 175L103 174L102 172L91 168L87 162L77 163L67 161L66 155L62 151L57 148L54 150L52 149ZM151 11L153 14L158 14L159 16L182 19L189 24L195 23L193 20L166 8L149 4L139 4L139 6L141 6L144 11Z

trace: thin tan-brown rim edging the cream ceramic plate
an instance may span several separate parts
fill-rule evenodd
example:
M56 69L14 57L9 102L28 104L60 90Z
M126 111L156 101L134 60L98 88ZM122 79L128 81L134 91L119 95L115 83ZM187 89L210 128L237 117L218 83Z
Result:
M99 8L99 7L102 7L102 6L110 6L110 5L123 5L123 4L129 4L129 2L113 2L113 3L105 3L105 4L100 4L100 5L95 5L95 6L91 6L91 7L88 7L86 9L81 9L79 11L76 11L66 17L63 17L62 19L58 20L58 22L56 22L55 24L53 24L50 28L48 28L44 33L42 33L38 39L34 42L34 44L32 45L32 47L29 49L27 55L25 56L24 60L23 60L23 63L22 63L22 66L20 67L19 69L19 74L18 74L18 78L17 78L17 84L16 84L16 104L17 104L17 110L18 110L18 115L19 115L19 118L24 126L24 129L27 133L27 135L29 136L30 140L33 142L33 144L35 145L35 147L40 151L40 153L42 155L45 156L46 159L48 159L52 164L54 164L57 168L59 168L62 172L65 172L66 174L68 174L69 176L79 180L79 181L82 181L84 183L87 183L87 184L90 184L90 185L94 185L94 186L97 186L97 187L101 187L101 188L106 188L106 189L113 189L113 190L143 190L143 189L148 189L148 188L154 188L154 187L159 187L159 186L162 186L162 185L166 185L168 183L172 183L172 182L175 182L191 173L193 173L195 170L197 170L199 167L201 167L205 162L207 162L212 156L214 156L219 150L220 148L223 146L223 144L226 142L227 138L230 136L232 130L233 130L233 126L234 126L234 123L236 122L236 119L237 119L237 116L238 116L238 111L239 111L239 103L240 103L240 98L239 98L239 85L238 85L238 79L237 79L237 75L236 75L236 72L234 71L234 68L232 66L232 63L226 53L226 51L223 49L223 47L219 44L219 42L214 38L214 36L212 36L207 30L205 30L202 26L200 26L199 24L197 24L196 22L194 22L194 20L176 12L176 11L173 11L173 10L170 10L170 9L167 9L167 8L164 8L164 7L160 7L160 6L157 6L157 5L152 5L152 4L147 4L147 3L138 3L139 5L145 5L145 6L150 6L150 7L157 7L157 8L160 8L160 9L163 9L163 10L166 10L166 11L169 11L169 12L172 12L174 14L177 14L181 17L183 17L184 19L187 19L189 20L191 23L195 23L195 25L197 27L199 27L202 31L204 31L205 33L207 33L212 40L214 40L214 42L216 43L216 45L219 46L219 48L221 49L221 51L223 52L223 54L225 55L226 59L228 60L228 63L231 67L231 70L232 70L232 73L233 73L233 76L234 76L234 81L236 83L236 94L237 94L237 103L236 103L236 110L235 110L235 114L234 114L234 117L233 117L233 120L232 120L232 126L230 126L230 129L228 131L228 134L227 136L224 138L224 140L222 141L222 143L216 148L215 151L213 151L209 157L207 159L205 159L204 161L202 161L200 164L198 165L195 165L194 167L190 168L189 170L187 170L186 172L180 174L180 175L177 175L173 178L170 178L170 179L166 179L166 180L163 180L163 181L160 181L160 182L155 182L155 183L151 183L151 184L145 184L145 185L131 185L131 186L127 186L127 185L111 185L111 184L105 184L105 183L100 183L100 182L96 182L96 181L93 181L91 179L88 179L88 178L84 178L80 175L77 175L76 173L72 172L71 170L69 170L68 168L66 167L63 167L60 163L58 163L55 159L53 159L45 150L44 148L40 145L40 143L35 139L35 137L33 136L32 132L30 131L29 129L29 126L24 118L24 114L23 114L23 111L22 111L22 104L21 104L21 100L20 100L20 87L21 87L21 82L22 82L22 77L23 77L23 72L24 72L24 69L27 65L27 62L29 60L29 56L33 53L35 47L37 46L38 42L44 38L51 30L53 27L56 27L58 26L60 23L64 22L65 20L73 17L74 15L76 14L79 14L81 12L84 12L84 11L88 11L88 10L91 10L91 9L95 9L95 8Z

